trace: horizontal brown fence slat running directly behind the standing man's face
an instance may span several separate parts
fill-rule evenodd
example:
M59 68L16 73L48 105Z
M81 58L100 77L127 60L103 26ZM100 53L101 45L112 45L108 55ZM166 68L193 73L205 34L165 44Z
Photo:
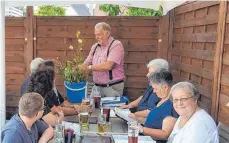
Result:
M112 36L118 38L138 38L138 39L157 39L158 28L140 28L138 27L118 27L111 28ZM75 38L75 33L81 31L83 38L94 38L94 28L78 28L67 27L67 26L38 26L37 36L38 37L63 37L63 38Z

